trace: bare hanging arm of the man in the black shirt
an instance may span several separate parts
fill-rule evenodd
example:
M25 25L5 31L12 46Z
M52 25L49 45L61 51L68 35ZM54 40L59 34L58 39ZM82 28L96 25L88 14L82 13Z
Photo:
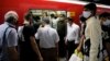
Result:
M32 46L33 50L34 50L35 53L38 56L38 59L40 59L41 61L43 61L43 58L42 58L41 52L40 52L40 50L38 50L37 44L35 42L34 36L31 36L30 39L31 39L31 46Z

